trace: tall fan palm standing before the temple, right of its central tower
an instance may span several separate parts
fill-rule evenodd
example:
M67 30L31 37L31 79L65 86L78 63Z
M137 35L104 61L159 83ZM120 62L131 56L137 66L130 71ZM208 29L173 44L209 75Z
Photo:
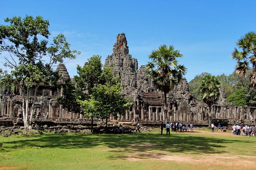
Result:
M152 80L156 89L164 93L164 113L167 113L167 93L180 83L186 74L187 68L178 65L178 57L182 57L179 50L174 50L173 45L160 45L148 56L151 62L145 67L146 76Z

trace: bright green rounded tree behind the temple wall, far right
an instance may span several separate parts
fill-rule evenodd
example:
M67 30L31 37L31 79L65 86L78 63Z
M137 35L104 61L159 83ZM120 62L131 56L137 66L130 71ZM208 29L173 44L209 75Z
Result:
M245 106L246 100L243 89L236 90L233 94L229 95L227 102L232 102L235 106Z

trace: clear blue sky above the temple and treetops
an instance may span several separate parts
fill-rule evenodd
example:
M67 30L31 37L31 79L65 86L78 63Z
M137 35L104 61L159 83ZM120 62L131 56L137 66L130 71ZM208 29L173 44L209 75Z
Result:
M235 42L256 31L256 1L251 0L11 0L0 4L0 24L6 25L6 17L40 15L50 22L51 39L63 33L72 49L81 51L65 64L71 76L76 75L76 64L83 65L95 54L102 56L104 64L118 33L126 34L138 67L147 63L153 49L167 44L184 55L180 64L188 68L188 82L202 72L229 75L236 64L230 58Z

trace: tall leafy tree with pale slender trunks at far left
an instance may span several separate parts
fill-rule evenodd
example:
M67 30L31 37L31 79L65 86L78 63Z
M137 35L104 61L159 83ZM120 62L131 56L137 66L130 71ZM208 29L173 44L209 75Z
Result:
M47 46L50 32L49 21L43 17L27 16L6 18L9 25L0 25L0 49L10 54L4 56L6 67L11 69L10 77L13 82L19 83L23 94L23 122L28 128L31 124L34 111L28 120L29 94L30 89L35 86L35 95L32 105L34 109L35 96L39 83L56 82L58 75L53 71L52 66L62 63L64 58L74 59L80 52L70 50L70 44L66 42L64 35L57 35L50 47ZM44 40L40 39L45 38ZM25 99L25 91L27 91ZM26 103L26 106L25 106Z

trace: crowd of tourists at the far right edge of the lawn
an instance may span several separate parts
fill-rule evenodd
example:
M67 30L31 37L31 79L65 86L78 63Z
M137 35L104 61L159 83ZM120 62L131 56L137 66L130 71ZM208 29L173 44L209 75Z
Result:
M243 135L243 136L256 136L256 126L255 125L239 125L233 124L231 126L232 134L233 135Z

